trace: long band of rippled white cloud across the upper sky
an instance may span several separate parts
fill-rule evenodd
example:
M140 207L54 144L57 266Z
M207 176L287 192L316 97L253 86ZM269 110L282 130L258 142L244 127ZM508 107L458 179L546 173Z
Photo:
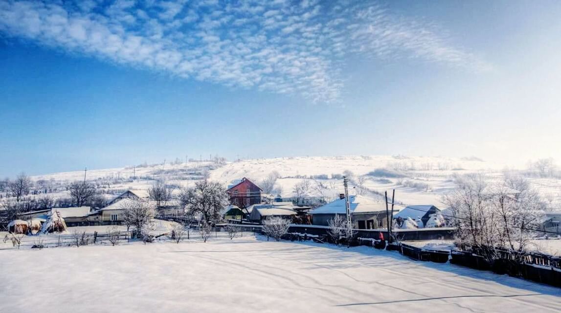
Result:
M148 2L75 5L0 0L0 32L103 59L232 87L337 101L342 66L413 58L468 70L488 65L427 24L376 3ZM321 14L320 14L321 12Z

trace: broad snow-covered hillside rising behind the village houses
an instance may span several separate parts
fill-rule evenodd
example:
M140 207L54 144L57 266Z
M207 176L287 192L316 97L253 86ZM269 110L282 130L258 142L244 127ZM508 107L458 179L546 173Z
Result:
M378 196L396 189L396 201L402 204L442 206L442 195L454 188L456 175L484 172L500 178L504 164L484 162L477 158L406 157L403 155L289 157L210 161L175 164L139 165L136 167L88 170L86 179L105 186L109 191L147 189L155 179L164 179L178 187L191 186L206 174L210 179L231 185L247 177L261 185L270 174L278 177L273 194L295 197L295 186L307 181L306 196L335 199L343 191L342 176L351 177L351 194L358 192ZM39 181L71 182L84 179L84 171L35 176ZM561 202L561 181L554 178L530 178L544 198ZM381 198L380 198L381 199Z

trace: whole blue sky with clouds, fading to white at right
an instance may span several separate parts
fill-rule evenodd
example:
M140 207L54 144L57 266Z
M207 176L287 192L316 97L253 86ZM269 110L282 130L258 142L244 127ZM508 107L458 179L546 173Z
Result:
M561 160L559 16L557 1L0 0L0 176L201 154Z

